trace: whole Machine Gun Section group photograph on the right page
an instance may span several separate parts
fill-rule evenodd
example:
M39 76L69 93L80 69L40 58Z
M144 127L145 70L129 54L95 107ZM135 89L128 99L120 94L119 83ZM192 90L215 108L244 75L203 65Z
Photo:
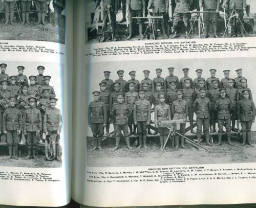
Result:
M254 163L255 58L88 65L87 164Z

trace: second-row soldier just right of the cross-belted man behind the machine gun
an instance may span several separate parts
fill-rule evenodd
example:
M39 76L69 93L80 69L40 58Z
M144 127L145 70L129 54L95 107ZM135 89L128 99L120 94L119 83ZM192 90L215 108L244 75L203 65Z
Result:
M184 79L184 83L185 83L185 88L183 89L182 98L187 102L187 108L188 108L187 114L188 114L190 132L193 134L196 134L196 132L193 130L193 117L194 117L193 103L196 98L195 98L194 90L190 88L191 80Z

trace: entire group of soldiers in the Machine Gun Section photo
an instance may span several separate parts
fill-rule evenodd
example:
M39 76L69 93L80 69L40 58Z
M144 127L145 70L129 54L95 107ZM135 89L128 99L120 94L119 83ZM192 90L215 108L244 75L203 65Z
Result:
M229 70L225 70L224 78L220 81L215 77L216 70L210 70L210 78L202 78L201 69L196 70L197 78L188 77L188 68L183 68L184 77L180 80L174 75L174 67L169 67L169 76L165 79L161 77L162 70L156 69L157 77L153 80L148 76L150 71L144 70L145 79L139 82L135 79L136 72L129 74L129 81L123 80L124 71L117 72L119 79L113 82L110 79L110 72L105 71L100 85L100 91L94 91L95 101L90 103L88 109L89 125L92 127L93 136L97 137L98 147L101 150L101 139L103 128L106 127L107 136L110 135L110 120L114 126L116 134L116 148L119 145L121 130L124 132L127 146L130 148L129 136L137 135L138 128L139 141L146 141L146 128L148 134L152 134L149 128L151 123L151 107L154 104L155 120L187 119L189 120L190 132L193 130L194 112L197 115L197 140L201 141L202 126L206 136L206 143L209 143L210 133L216 131L216 123L219 127L219 143L223 126L226 128L228 144L230 141L230 130L238 131L239 123L242 126L243 145L245 139L250 142L251 123L255 117L255 106L252 101L250 89L247 87L246 78L242 77L242 69L236 70L238 77L229 78ZM248 94L248 97L247 97ZM248 102L248 105L244 105ZM179 102L178 102L179 101ZM250 103L250 104L249 104ZM238 129L235 128L236 120ZM140 123L143 122L143 123ZM248 124L250 122L250 124ZM127 127L127 128L126 128ZM130 133L128 131L130 129ZM167 128L158 128L154 134L160 133L160 142L166 138ZM185 133L185 124L181 125L181 134ZM247 137L246 137L247 135ZM177 141L179 137L177 136ZM139 147L141 147L141 142ZM179 142L176 142L179 144ZM184 148L184 140L181 140ZM94 146L96 149L97 144ZM146 147L146 142L144 142ZM176 149L179 147L176 146Z

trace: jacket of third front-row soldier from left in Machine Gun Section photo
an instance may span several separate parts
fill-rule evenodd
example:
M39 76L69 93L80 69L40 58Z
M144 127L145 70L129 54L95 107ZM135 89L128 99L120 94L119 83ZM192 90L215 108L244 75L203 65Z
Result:
M140 99L136 101L133 110L134 123L140 121L151 121L151 105L150 102L148 102L147 100Z

